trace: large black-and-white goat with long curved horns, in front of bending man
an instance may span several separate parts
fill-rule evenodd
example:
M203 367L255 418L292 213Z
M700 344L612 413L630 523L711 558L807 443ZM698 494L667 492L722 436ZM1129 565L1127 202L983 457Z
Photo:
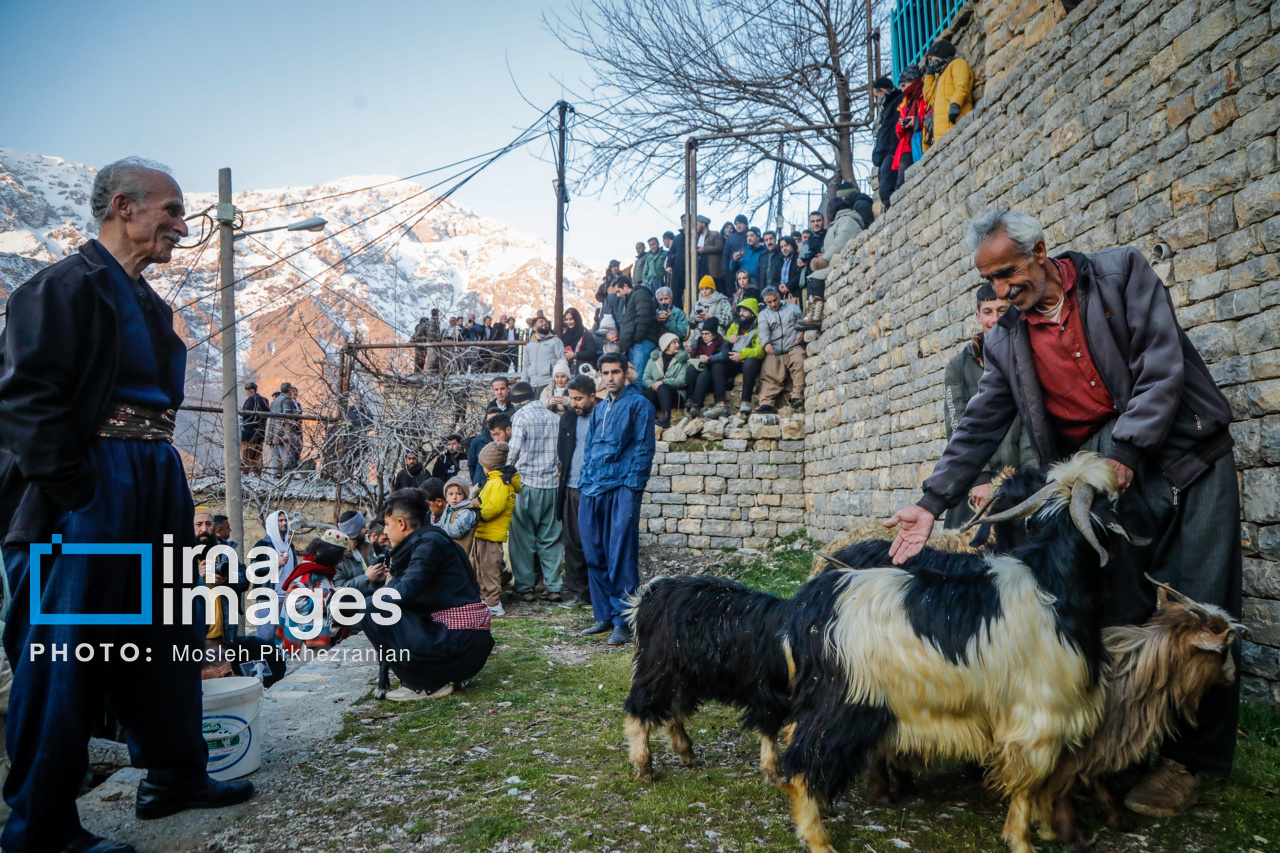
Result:
M1005 840L1034 850L1030 825L1051 822L1046 780L1102 717L1103 542L1125 535L1116 493L1111 466L1076 453L983 519L1029 516L1025 546L927 548L902 569L824 571L800 589L783 629L795 731L781 768L812 852L832 853L820 806L884 754L982 762L1010 797Z

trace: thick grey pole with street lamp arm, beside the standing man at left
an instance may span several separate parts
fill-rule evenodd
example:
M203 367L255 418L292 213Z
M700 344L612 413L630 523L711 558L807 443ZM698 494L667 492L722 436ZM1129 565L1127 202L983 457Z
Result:
M218 284L223 302L223 465L227 467L227 517L232 539L244 556L244 492L239 470L239 414L236 396L236 205L232 170L218 170Z

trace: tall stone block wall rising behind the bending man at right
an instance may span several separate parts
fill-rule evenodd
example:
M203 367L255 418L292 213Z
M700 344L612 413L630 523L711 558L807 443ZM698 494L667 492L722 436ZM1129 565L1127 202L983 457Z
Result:
M1018 60L833 264L806 362L805 523L829 538L919 496L943 366L977 330L970 216L1032 213L1051 251L1134 246L1234 409L1245 690L1280 701L1280 3L1088 0L1061 22L1014 5L987 4L986 55Z

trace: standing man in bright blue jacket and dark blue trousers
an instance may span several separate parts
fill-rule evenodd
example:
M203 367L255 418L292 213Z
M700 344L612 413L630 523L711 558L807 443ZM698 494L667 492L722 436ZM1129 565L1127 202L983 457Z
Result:
M608 393L591 411L579 488L577 526L595 613L582 633L612 629L609 646L622 646L631 639L622 613L640 587L640 503L653 465L654 409L627 384L621 353L600 356L599 369Z

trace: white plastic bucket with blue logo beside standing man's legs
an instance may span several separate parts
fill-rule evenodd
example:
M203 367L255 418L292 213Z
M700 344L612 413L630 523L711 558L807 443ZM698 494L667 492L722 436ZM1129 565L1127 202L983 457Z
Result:
M262 763L262 683L233 676L204 681L205 743L209 775L225 781L247 776Z

